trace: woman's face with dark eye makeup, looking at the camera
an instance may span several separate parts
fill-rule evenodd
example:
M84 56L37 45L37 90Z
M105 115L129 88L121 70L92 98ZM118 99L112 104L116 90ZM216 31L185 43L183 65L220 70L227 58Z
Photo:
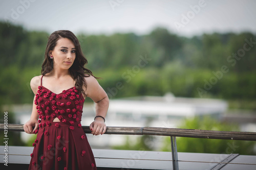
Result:
M60 38L49 53L53 56L53 68L55 69L69 69L76 58L75 45L68 38Z

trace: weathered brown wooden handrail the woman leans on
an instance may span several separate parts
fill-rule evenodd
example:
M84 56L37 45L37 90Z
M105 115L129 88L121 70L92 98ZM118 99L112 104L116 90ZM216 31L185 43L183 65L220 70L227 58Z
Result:
M91 133L89 126L82 126L84 133ZM0 124L4 130L4 124ZM8 131L24 132L22 124L8 124ZM105 134L118 135L159 135L208 139L254 140L256 132L209 131L197 129L155 128L155 127L107 127Z

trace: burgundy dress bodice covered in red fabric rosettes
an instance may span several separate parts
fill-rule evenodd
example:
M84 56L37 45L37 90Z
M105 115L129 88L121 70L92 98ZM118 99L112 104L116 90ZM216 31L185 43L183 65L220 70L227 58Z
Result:
M50 126L57 117L66 125L80 126L83 108L83 96L78 94L75 87L63 90L59 94L53 93L44 86L38 86L35 104L39 114L39 127ZM57 123L57 122L54 122Z

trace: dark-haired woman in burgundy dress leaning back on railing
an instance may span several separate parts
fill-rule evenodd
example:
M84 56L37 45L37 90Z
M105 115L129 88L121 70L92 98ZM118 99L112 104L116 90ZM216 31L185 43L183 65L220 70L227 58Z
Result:
M50 35L41 76L30 82L35 96L24 131L37 137L29 169L96 169L80 124L82 107L86 97L95 102L96 117L90 129L93 135L102 135L109 98L92 72L84 68L86 63L72 32L60 30Z

